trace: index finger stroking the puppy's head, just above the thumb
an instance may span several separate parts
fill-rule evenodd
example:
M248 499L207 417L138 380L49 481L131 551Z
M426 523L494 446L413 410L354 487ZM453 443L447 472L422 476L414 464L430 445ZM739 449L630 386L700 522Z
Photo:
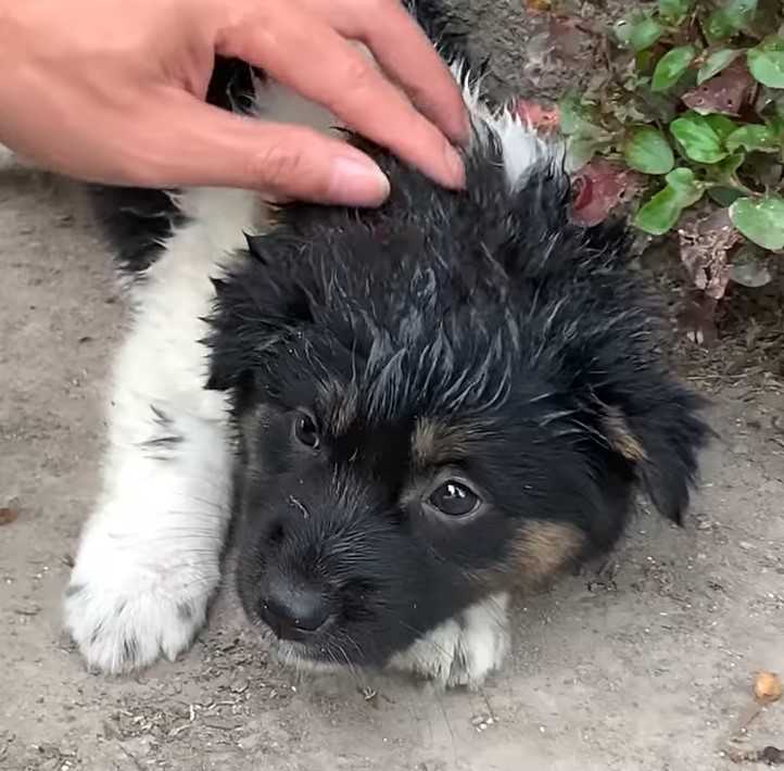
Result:
M257 7L250 0L252 10ZM435 125L366 55L296 3L249 11L223 30L217 46L220 53L264 67L276 80L326 106L345 125L442 185L463 186L463 162ZM408 65L403 69L402 77L413 77Z

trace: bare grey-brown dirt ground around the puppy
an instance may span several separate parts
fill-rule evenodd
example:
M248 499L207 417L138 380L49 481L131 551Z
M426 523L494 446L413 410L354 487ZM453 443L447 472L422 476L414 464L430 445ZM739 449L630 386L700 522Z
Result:
M492 9L473 3L478 45L494 29L508 69L520 41ZM643 511L602 570L520 598L513 659L482 692L296 681L230 586L181 660L86 673L60 598L124 318L78 191L0 169L0 507L18 513L0 523L0 768L723 771L731 747L784 746L784 703L738 731L755 672L784 674L784 381L720 355L685 367L720 434L686 527Z

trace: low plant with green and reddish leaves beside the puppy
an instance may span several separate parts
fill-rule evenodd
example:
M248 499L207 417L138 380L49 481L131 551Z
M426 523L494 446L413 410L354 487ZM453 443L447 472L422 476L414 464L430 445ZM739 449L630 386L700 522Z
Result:
M607 42L608 72L559 104L572 165L637 173L646 233L724 211L728 249L784 253L784 3L658 0Z

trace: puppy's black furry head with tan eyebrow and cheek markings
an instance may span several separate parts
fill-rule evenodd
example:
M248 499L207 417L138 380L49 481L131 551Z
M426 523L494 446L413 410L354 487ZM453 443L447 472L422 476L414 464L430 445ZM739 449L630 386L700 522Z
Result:
M239 433L239 592L288 657L380 665L471 603L678 518L697 402L653 353L615 231L552 169L468 192L387 159L380 211L295 206L217 286Z

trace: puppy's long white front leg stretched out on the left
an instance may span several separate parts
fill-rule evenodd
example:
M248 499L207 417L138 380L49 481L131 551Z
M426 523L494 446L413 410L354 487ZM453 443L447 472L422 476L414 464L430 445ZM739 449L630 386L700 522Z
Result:
M203 198L211 193L201 193ZM117 362L103 491L66 592L66 625L90 667L127 671L174 658L204 623L220 580L230 509L225 396L204 390L198 342L211 308L210 274L251 222L228 193L176 232L134 290L135 326ZM222 205L222 202L224 205ZM229 203L233 203L229 199ZM240 201L241 203L241 201ZM199 214L199 211L195 211ZM218 236L227 231L225 239Z

